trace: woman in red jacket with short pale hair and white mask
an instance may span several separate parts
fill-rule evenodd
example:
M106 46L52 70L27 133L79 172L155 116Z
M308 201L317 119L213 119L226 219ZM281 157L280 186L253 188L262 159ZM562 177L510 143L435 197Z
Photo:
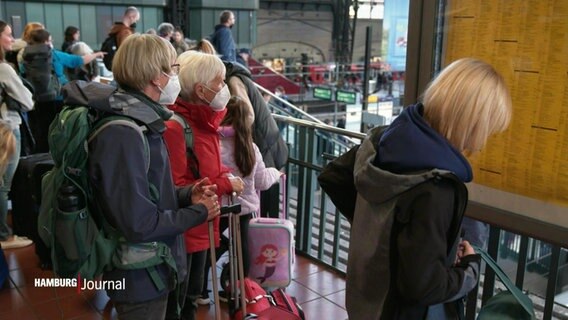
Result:
M197 179L208 177L217 185L217 195L237 192L244 184L221 164L217 129L225 116L225 106L230 99L225 84L225 66L210 54L187 51L178 57L181 93L170 109L181 115L193 130L193 150L197 163L186 156L185 135L181 124L168 121L164 139L170 153L174 183L185 186ZM199 177L193 170L196 168ZM182 310L183 319L195 319L197 298L200 297L204 279L204 267L209 249L207 224L204 223L185 233L188 253L189 278L187 298ZM219 218L215 220L215 245L219 245Z

